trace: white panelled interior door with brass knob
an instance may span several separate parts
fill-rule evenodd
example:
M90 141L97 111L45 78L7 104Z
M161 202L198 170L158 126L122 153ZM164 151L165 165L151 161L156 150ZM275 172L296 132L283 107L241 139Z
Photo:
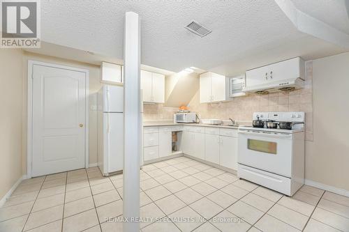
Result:
M32 176L85 167L86 72L33 65Z

